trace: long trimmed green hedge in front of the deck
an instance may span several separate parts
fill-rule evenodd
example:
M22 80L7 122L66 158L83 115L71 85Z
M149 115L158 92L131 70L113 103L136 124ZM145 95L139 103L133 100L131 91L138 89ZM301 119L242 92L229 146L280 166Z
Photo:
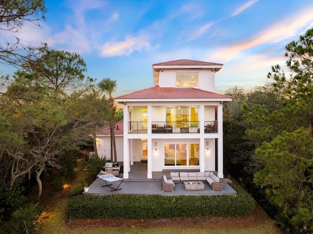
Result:
M162 196L113 194L81 195L69 202L69 216L75 218L172 218L238 216L251 213L254 199L239 186L237 195Z

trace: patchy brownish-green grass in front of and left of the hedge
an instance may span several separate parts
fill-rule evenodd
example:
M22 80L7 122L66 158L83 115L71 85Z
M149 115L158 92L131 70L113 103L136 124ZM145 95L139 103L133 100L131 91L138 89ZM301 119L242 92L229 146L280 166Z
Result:
M74 183L78 183L82 180L86 180L89 173L81 169L75 171L76 179ZM70 186L69 186L70 187ZM236 222L237 219L245 220L245 224L240 226L233 225L234 223L229 223L228 218L224 218L222 223L221 219L217 219L216 225L213 227L201 227L197 228L196 224L192 224L189 227L171 227L166 223L164 225L159 225L158 227L142 227L140 225L131 225L128 227L101 227L101 225L93 225L92 220L83 220L85 224L79 227L68 225L67 217L67 205L70 200L69 193L65 196L57 198L50 209L46 209L46 212L42 213L41 219L39 221L40 234L280 234L280 232L275 228L273 222L270 219L258 218L253 216L236 218L233 217L230 222ZM90 211L92 212L92 211ZM142 220L138 220L138 223ZM102 220L101 220L102 222ZM103 220L106 222L106 220ZM123 220L120 221L122 223ZM142 222L141 222L142 223ZM224 225L227 224L227 225ZM251 224L254 223L254 224ZM97 226L97 227L96 227ZM223 228L219 228L223 226Z

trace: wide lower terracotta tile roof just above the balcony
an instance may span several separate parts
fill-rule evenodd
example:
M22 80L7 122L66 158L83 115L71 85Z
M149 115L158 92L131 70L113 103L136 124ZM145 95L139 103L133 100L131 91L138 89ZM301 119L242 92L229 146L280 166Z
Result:
M173 87L151 87L121 95L115 99L225 99L232 98L224 94L218 94L199 88L173 88Z

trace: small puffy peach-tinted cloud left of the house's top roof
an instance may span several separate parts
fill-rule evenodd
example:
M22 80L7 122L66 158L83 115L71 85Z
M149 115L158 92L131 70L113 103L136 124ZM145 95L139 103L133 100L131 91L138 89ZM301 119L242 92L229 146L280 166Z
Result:
M114 57L130 55L134 51L149 49L150 43L147 36L132 37L126 36L122 42L108 42L101 46L103 57Z

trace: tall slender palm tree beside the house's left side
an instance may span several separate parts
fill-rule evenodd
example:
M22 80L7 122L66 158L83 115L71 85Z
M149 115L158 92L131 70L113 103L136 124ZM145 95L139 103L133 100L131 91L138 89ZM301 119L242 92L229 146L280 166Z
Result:
M117 161L116 157L116 146L115 146L115 136L114 136L114 98L112 97L112 92L116 89L116 80L111 80L110 78L104 78L98 83L98 87L104 91L108 96L108 104L110 105L110 114L111 114L111 161L113 162L113 150L114 150L114 162ZM112 150L113 148L113 150Z

